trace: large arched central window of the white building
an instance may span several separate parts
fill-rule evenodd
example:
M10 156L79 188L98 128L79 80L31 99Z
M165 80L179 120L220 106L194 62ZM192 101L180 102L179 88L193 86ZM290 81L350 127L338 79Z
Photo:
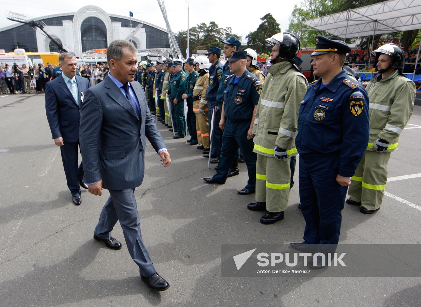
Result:
M80 25L82 52L107 48L107 27L97 17L88 17Z

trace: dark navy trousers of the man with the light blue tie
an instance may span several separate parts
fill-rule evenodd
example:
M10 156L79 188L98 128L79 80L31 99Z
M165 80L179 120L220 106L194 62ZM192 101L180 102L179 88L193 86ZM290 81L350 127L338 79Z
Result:
M83 164L81 161L80 166L77 166L78 149L79 141L69 143L64 140L64 145L60 147L67 187L69 187L72 196L80 196L82 194L79 182L83 181Z

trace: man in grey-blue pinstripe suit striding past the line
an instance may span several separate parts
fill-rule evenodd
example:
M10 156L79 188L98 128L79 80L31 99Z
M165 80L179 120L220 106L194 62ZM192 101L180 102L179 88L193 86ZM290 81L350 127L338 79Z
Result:
M133 82L136 49L125 40L113 41L107 50L110 71L103 82L85 93L80 122L80 147L88 191L110 196L96 225L94 239L112 249L121 243L112 238L117 221L123 229L129 253L139 266L141 279L149 288L164 291L170 286L157 274L143 243L140 219L133 192L144 176L146 138L163 160L171 157L147 106L141 85Z

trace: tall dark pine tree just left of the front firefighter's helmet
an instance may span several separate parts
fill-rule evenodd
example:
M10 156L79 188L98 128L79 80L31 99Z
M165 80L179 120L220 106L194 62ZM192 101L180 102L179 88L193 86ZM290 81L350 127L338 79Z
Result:
M256 50L257 53L269 52L271 45L266 42L266 38L281 32L279 24L271 13L267 13L260 19L262 22L257 27L256 31L250 32L247 38L247 48Z

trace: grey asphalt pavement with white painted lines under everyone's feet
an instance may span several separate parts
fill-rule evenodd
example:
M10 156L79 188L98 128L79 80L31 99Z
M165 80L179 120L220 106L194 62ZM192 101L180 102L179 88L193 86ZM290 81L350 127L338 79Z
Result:
M73 205L44 103L43 94L0 96L0 306L420 306L421 278L221 277L222 243L302 240L298 163L285 219L263 225L262 213L246 208L254 195L237 194L245 164L226 184L205 184L214 174L207 159L160 124L173 162L163 168L148 143L135 191L143 239L171 284L150 291L119 224L112 235L121 250L93 240L108 191L83 190L82 205ZM381 209L364 215L345 205L341 243L421 243L421 106L409 123Z

